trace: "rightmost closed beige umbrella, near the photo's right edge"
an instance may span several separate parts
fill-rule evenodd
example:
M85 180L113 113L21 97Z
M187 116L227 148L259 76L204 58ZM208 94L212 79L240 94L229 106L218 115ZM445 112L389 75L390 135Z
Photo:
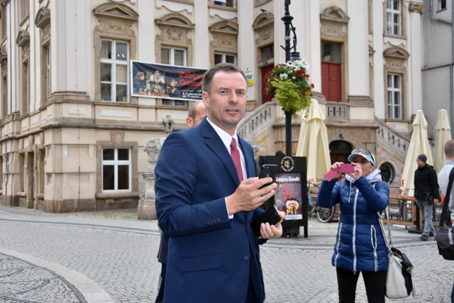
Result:
M435 155L433 155L433 166L435 167L435 170L439 172L441 167L445 165L445 143L452 139L448 111L445 109L440 109L438 111L438 119L435 129Z

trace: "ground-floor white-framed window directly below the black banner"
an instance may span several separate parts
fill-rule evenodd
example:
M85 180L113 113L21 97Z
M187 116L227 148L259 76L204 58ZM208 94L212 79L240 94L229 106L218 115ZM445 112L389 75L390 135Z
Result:
M103 148L102 191L131 192L131 149Z

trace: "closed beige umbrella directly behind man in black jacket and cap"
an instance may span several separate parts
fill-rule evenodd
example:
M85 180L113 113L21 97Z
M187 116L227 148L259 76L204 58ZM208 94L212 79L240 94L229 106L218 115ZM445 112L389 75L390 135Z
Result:
M418 167L416 157L421 153L427 155L427 164L433 165L431 145L427 138L427 121L424 118L423 111L416 111L416 117L413 121L413 133L411 134L408 153L406 154L404 171L400 181L400 189L405 191L409 196L414 194L414 171Z

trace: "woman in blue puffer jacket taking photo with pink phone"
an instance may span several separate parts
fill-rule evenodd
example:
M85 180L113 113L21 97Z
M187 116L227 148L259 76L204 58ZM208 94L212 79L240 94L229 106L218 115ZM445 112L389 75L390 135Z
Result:
M356 284L362 272L367 301L384 302L388 250L378 221L378 213L389 204L389 187L375 168L370 150L353 150L348 156L354 171L345 180L323 180L317 205L341 206L336 245L331 262L336 266L339 302L355 302ZM338 171L341 162L331 170Z

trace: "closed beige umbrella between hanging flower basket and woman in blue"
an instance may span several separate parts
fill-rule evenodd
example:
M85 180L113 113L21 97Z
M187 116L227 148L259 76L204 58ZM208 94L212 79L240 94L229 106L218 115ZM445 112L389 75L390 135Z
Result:
M301 130L297 156L306 157L307 182L319 183L331 167L329 155L328 133L326 131L325 114L321 110L319 101L311 100L309 116L301 118Z

